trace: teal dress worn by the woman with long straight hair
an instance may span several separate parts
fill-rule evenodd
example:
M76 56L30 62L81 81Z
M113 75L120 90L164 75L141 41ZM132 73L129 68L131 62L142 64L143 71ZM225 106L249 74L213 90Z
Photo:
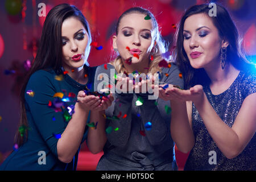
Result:
M56 77L53 69L41 69L32 74L25 90L28 139L7 157L0 170L76 170L80 147L71 163L61 162L57 156L57 142L70 117L67 117L67 110L64 109L66 107L61 107L61 110L53 109L49 101L54 102L56 97L53 95L61 92L65 97L69 96L70 101L65 104L71 106L76 104L77 93L84 90L85 86L93 91L96 67L85 66L85 69L89 76L86 85L79 84L68 74L63 75L63 79ZM82 142L85 141L87 133L88 126Z

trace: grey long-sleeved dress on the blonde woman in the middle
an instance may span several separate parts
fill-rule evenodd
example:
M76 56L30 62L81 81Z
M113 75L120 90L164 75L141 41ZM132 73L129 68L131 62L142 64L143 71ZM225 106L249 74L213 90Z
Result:
M97 68L94 89L97 90L98 84L102 82L97 80L97 76L102 73L106 73L110 82L114 83L113 78L110 78L110 69L114 69L113 65ZM171 68L162 68L159 81L183 88L184 81L179 73L176 65L172 64ZM114 101L106 110L106 129L112 127L112 131L106 134L108 140L104 146L104 155L96 170L177 170L174 141L170 134L171 114L166 111L170 101L159 98L148 100L147 93L115 92L113 96ZM135 105L138 97L144 100L141 106ZM125 114L126 117L123 117ZM152 123L151 130L145 130L147 122Z

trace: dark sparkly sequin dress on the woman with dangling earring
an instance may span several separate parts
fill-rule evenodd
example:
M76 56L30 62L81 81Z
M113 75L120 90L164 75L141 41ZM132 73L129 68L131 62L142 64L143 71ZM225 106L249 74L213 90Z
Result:
M213 95L209 86L204 87L204 92L222 121L232 127L243 100L256 92L256 75L241 71L225 92ZM251 111L255 112L256 108L251 108ZM194 104L192 105L192 128L196 142L188 156L184 170L256 170L255 134L240 155L228 159L210 137ZM216 152L215 162L211 151Z

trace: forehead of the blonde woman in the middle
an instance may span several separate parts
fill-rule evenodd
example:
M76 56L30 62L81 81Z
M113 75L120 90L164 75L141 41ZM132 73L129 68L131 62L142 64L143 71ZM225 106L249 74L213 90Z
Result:
M145 17L146 15L141 13L127 14L120 20L118 28L119 30L121 30L123 27L131 27L135 30L141 30L144 28L152 30L152 20L145 20Z

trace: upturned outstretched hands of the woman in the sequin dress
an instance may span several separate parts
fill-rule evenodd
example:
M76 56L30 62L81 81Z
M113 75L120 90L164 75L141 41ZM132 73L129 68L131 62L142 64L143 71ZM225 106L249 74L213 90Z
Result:
M204 91L202 85L195 85L189 90L181 90L174 85L169 84L168 88L164 90L159 85L159 97L163 100L176 100L176 101L192 101L200 102L203 100Z

